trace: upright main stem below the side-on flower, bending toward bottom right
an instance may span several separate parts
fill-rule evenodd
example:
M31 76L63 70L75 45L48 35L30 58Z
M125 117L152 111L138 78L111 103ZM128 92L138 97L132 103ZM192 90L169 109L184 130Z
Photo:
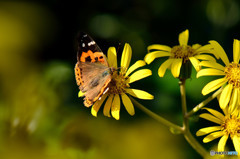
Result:
M187 102L186 102L186 90L185 90L186 79L179 81L181 101L182 101L182 114L183 114L183 135L188 143L197 151L202 157L207 155L207 151L202 147L201 144L192 136L189 129L189 121L187 117Z

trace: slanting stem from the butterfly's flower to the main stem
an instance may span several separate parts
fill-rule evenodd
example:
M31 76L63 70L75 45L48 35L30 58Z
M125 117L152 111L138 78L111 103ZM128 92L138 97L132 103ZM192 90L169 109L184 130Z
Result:
M138 107L139 109L141 109L143 112L145 112L147 115L149 115L150 117L152 117L153 119L157 120L158 122L162 123L163 125L175 129L178 132L182 132L182 128L176 124L173 124L172 122L164 119L163 117L159 116L158 114L152 112L151 110L147 109L146 107L144 107L142 104L138 103L135 99L133 99L132 97L130 97L131 101L134 103L134 106Z

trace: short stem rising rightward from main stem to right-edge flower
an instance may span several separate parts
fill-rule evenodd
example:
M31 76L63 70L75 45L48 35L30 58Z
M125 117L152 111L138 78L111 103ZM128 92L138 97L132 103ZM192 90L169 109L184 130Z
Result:
M222 92L223 88L220 88L218 91L216 91L215 93L213 93L210 97L208 97L207 99L205 99L204 101L202 101L201 103L199 103L197 106L195 106L190 112L188 112L186 114L186 117L190 117L192 116L194 113L196 113L197 111L199 111L202 107L204 107L205 105L207 105L210 101L212 101L214 98L216 98L221 92Z

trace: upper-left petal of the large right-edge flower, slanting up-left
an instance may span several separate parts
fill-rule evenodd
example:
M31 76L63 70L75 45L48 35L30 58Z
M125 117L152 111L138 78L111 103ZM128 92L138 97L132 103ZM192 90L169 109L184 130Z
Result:
M214 40L209 41L209 43L213 46L214 52L219 55L219 57L224 62L225 66L228 66L229 60L222 46Z

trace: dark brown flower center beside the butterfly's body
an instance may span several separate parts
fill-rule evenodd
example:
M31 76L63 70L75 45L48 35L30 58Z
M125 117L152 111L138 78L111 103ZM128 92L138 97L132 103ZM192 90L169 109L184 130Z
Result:
M121 94L125 93L125 88L130 87L126 82L128 77L124 77L124 74L118 73L117 71L113 72L112 80L109 84L109 94Z

